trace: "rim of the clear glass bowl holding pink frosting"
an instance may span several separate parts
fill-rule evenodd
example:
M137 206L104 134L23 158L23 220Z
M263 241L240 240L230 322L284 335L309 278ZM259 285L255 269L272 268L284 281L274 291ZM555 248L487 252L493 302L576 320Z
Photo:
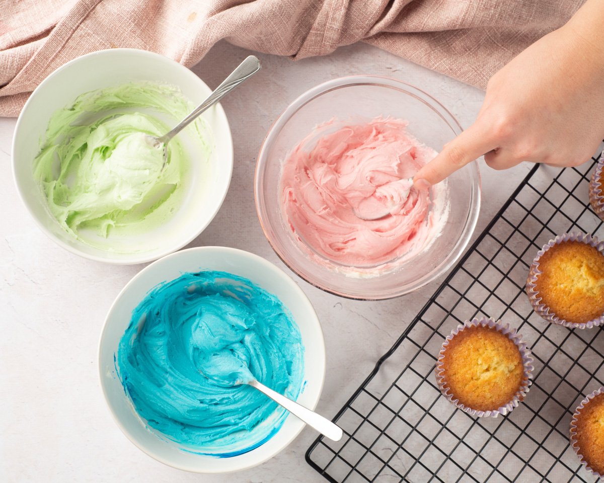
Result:
M267 146L269 144L272 144L272 142L274 141L274 138L276 138L278 133L281 131L281 129L283 129L283 126L289 121L289 119L295 114L295 112L297 112L297 110L300 109L301 107L303 107L305 104L309 103L310 101L314 100L317 97L320 97L320 95L326 94L327 92L333 91L335 89L346 88L346 87L357 86L357 85L373 85L373 86L378 86L381 88L399 89L399 91L400 90L411 91L411 92L405 92L405 94L409 94L416 98L417 98L417 95L415 95L413 93L413 91L417 91L419 94L428 98L428 100L431 103L434 103L438 107L438 110L437 110L437 109L435 109L435 107L433 105L428 104L428 106L431 107L432 110L435 110L435 112L437 112L437 114L439 114L441 117L443 117L443 118L446 117L446 121L449 121L450 123L453 124L454 128L458 129L458 132L456 132L454 129L454 133L456 136L459 135L461 132L463 132L463 128L461 127L461 124L459 123L459 121L457 121L457 118L455 118L455 116L453 114L451 114L451 112L445 106L443 106L443 104L441 104L440 101L436 100L434 97L432 97L432 95L428 94L427 92L423 91L422 89L420 89L410 83L404 82L402 80L399 80L399 79L396 79L393 77L386 77L386 76L382 76L382 75L347 75L345 77L338 77L338 78L335 78L332 80L328 80L326 82L323 82L323 83L320 83L320 84L314 86L313 88L308 89L307 91L303 92L303 94L301 94L297 98L295 98L294 101L292 101L289 104L289 106L286 107L283 110L283 112L281 112L281 114L277 117L277 119L274 121L274 123L272 123L271 127L269 127L269 130L266 133L265 139L262 141L262 145L260 146L260 151L258 154L258 158L256 161L255 170L254 170L254 204L255 204L255 208L256 208L256 214L257 214L259 222L260 222L260 227L262 228L262 231L263 231L265 238L268 241L269 245L271 245L272 250L275 252L277 257L279 257L280 260L290 270L292 270L292 272L294 272L296 275L298 275L298 277L300 277L302 280L306 281L313 287L323 290L324 292L331 293L333 295L337 295L342 298L347 298L347 299L352 299L352 300L367 300L367 301L387 300L387 299L397 298L402 295L406 295L408 293L417 292L417 290L421 289L422 287L424 287L427 284L434 281L436 278L443 275L443 273L447 272L449 269L451 269L452 266L454 266L454 264L457 262L457 260L459 260L459 258L461 257L461 255L463 254L463 252L465 251L467 246L469 245L471 238L472 238L472 234L474 234L476 225L478 223L478 216L480 215L480 205L481 205L481 176L480 176L480 169L478 168L477 159L474 159L474 161L467 164L467 166L472 170L472 185L469 190L469 193L470 193L469 210L468 210L468 214L466 217L466 222L465 222L463 230L461 232L461 236L457 240L455 245L452 247L451 252L449 253L449 255L451 255L451 254L455 254L455 255L443 260L443 262L441 262L439 264L439 266L437 266L435 268L435 270L432 270L432 272L429 273L429 275L420 279L421 280L420 284L411 288L410 290L406 290L403 292L399 291L396 293L388 293L387 295L379 295L379 294L378 295L360 295L360 294L355 295L355 294L341 292L338 289L327 287L319 282L309 280L309 278L306 277L305 275L303 275L294 266L294 264L292 264L291 261L288 260L288 257L284 253L281 253L280 249L277 248L274 240L272 240L271 236L269 236L269 231L266 226L266 225L268 225L268 221L264 220L262 217L262 210L265 205L263 203L263 196L261 193L259 193L259 171L260 171L261 165L266 164L266 159L267 159L266 151L268 150Z

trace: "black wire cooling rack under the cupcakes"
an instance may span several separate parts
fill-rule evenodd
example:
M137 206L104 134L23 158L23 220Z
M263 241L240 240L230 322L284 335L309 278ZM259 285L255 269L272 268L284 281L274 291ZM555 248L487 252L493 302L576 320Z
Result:
M593 482L568 442L574 408L604 385L604 333L568 330L533 312L524 284L536 252L567 231L604 235L588 183L597 163L533 168L422 311L336 415L345 435L318 438L306 461L334 483ZM488 194L487 194L488 196ZM473 418L440 395L446 336L475 316L518 328L533 385L506 417Z

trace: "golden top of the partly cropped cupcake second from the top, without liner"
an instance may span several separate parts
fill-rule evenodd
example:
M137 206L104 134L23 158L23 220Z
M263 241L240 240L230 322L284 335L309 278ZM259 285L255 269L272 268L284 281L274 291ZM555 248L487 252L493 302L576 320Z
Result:
M557 318L582 324L604 314L604 255L580 241L562 241L539 258L535 290Z

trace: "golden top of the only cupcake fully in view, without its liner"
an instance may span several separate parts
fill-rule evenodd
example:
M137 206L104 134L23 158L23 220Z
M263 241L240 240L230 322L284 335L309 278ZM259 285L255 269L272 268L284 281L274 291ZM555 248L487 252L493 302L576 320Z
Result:
M494 411L513 400L524 379L516 344L496 328L466 327L443 353L444 389L461 404Z

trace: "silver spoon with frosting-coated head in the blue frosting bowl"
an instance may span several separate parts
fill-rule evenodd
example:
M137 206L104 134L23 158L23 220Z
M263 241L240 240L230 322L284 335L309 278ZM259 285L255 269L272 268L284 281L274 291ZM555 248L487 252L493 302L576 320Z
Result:
M239 359L233 351L225 348L211 353L208 357L211 358L211 363L205 364L203 370L200 370L200 372L217 385L225 388L241 384L252 386L252 388L263 392L275 403L283 406L291 414L330 440L339 441L342 439L344 433L339 426L320 414L304 408L304 406L299 405L297 402L263 385L252 375L248 365Z

